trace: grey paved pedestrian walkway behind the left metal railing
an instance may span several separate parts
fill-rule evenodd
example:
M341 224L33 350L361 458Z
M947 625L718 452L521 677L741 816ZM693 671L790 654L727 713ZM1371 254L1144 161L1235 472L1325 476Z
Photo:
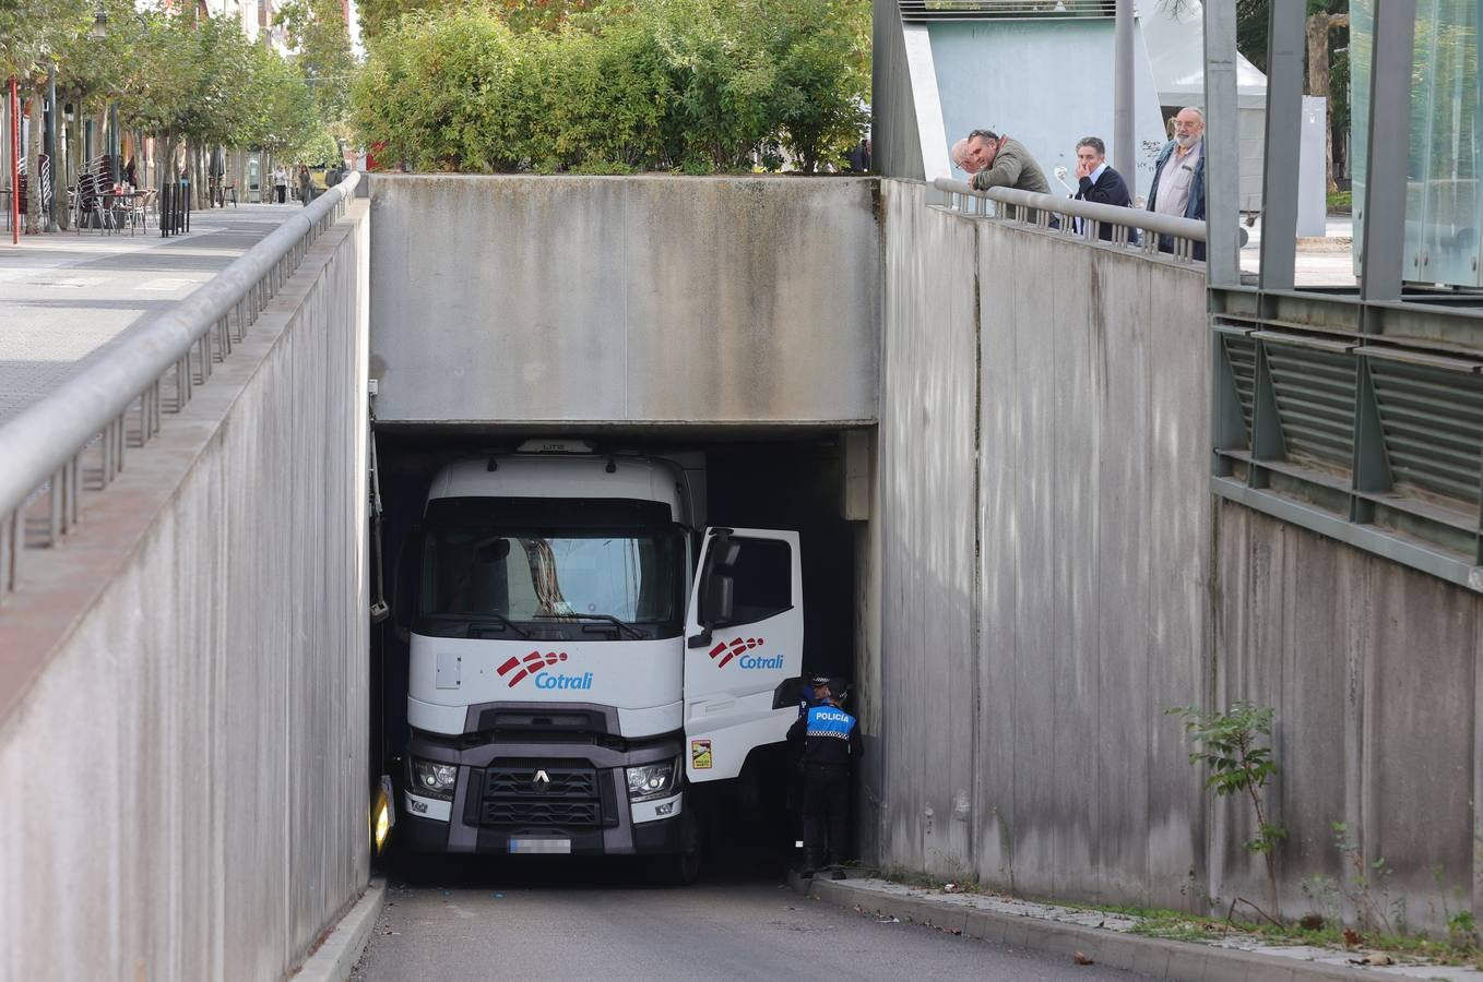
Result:
M98 231L9 237L0 244L0 422L65 379L141 318L211 280L301 206L191 213L160 238Z

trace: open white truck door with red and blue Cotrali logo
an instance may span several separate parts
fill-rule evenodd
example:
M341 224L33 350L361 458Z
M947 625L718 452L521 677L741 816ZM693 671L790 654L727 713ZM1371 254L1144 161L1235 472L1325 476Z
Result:
M802 664L798 533L706 529L685 613L690 781L737 778L752 748L786 739Z

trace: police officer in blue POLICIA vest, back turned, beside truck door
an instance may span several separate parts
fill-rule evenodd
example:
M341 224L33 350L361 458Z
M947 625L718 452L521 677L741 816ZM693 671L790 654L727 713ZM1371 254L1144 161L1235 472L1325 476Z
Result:
M820 861L844 880L850 834L850 767L860 758L860 724L844 711L850 683L829 680L825 705L811 707L787 730L789 742L802 744L804 758L804 877L814 875Z

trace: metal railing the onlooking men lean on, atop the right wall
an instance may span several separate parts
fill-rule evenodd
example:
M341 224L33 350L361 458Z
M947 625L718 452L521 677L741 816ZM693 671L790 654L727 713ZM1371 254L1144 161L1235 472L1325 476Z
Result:
M1151 256L1169 255L1179 262L1203 262L1204 259L1204 249L1197 250L1195 244L1204 244L1206 224L1192 218L1173 218L1142 207L1078 201L1016 188L979 191L952 178L937 178L933 181L933 187L946 193L949 210L964 215L994 215L1087 241L1137 249ZM989 203L994 203L992 212ZM1056 216L1054 222L1051 216ZM1109 238L1100 237L1103 227L1111 230ZM1142 234L1134 237L1133 231Z

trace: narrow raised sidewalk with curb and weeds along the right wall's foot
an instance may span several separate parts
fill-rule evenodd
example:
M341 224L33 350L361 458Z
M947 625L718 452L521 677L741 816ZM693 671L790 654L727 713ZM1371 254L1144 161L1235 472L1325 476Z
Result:
M790 877L795 889L804 884ZM951 935L1011 946L1077 954L1096 964L1188 982L1309 982L1333 979L1446 979L1483 982L1483 972L1443 964L1357 966L1364 951L1262 943L1234 935L1219 943L1134 933L1137 917L1035 903L992 893L945 893L888 880L813 880L808 896L853 908L881 924L925 924ZM1401 958L1397 957L1397 961Z

